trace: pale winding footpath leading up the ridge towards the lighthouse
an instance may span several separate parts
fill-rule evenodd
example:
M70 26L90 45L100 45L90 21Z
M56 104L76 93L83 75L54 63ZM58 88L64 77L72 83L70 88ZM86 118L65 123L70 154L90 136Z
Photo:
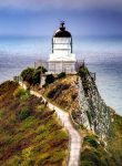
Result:
M26 89L26 86L23 86L23 87ZM30 93L38 97L42 97L44 100L44 102L47 102L47 100L40 93L38 93L35 91L30 91ZM63 110L54 106L50 102L48 102L48 106L50 110L55 111L58 117L61 120L64 127L69 132L69 137L70 137L70 152L69 153L70 154L69 154L69 158L68 158L68 166L79 166L80 152L81 152L81 146L82 146L81 145L81 136L80 136L79 132L73 127L68 113L65 113Z

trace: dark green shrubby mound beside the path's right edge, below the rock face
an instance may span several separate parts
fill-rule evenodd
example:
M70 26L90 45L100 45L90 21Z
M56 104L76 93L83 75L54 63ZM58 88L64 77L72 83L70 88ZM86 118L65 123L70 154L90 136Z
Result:
M81 166L115 166L114 160L104 149L103 143L93 134L85 133L83 137L83 152L81 153Z

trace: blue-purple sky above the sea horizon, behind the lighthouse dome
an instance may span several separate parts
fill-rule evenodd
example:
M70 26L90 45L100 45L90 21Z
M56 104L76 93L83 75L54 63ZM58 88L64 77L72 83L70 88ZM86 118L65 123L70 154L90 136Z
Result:
M122 0L0 0L0 35L122 35Z

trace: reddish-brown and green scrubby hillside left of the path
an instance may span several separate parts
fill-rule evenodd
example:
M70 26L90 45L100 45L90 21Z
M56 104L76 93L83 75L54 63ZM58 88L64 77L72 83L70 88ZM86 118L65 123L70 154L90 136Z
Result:
M67 148L54 111L14 82L0 85L1 166L62 166Z

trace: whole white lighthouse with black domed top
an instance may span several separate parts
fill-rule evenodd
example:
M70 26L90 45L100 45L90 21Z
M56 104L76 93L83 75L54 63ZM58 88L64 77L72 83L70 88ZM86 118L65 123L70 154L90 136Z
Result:
M62 21L52 38L52 53L48 60L49 73L65 72L67 74L74 74L75 62L75 54L72 53L72 35L65 30Z

